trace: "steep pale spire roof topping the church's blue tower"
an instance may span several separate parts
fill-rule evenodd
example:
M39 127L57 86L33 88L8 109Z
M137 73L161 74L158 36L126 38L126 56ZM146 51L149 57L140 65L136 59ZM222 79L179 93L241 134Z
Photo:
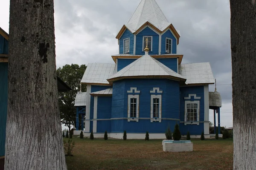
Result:
M141 0L139 6L125 26L134 33L147 21L160 31L163 31L171 25L155 0ZM180 34L179 31L177 32Z

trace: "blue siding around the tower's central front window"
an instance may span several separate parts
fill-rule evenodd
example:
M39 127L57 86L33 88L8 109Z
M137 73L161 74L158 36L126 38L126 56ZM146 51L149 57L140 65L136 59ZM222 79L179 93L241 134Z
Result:
M153 45L152 51L149 51L149 55L158 55L159 54L159 35L151 30L149 27L146 27L139 34L136 35L136 55L144 55L143 51L143 36L152 36L153 37Z

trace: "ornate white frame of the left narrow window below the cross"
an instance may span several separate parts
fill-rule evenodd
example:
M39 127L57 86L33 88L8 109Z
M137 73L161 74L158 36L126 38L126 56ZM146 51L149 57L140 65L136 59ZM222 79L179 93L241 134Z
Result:
M137 88L131 88L130 91L127 91L127 93L140 93L140 91L137 91ZM131 117L131 99L136 98L136 117L132 118ZM128 112L127 112L127 117L128 117L128 122L130 121L136 121L139 122L139 105L140 105L140 95L139 94L128 94Z

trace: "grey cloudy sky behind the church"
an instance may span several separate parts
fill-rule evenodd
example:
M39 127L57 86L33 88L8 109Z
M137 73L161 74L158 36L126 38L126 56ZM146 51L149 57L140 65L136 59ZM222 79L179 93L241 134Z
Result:
M180 30L182 63L210 62L221 93L221 126L232 127L229 0L156 0ZM116 34L140 0L55 0L57 67L89 62L113 63ZM0 27L9 32L9 1L1 2ZM5 17L3 17L5 16ZM214 91L210 86L210 91ZM210 110L213 122L213 111Z

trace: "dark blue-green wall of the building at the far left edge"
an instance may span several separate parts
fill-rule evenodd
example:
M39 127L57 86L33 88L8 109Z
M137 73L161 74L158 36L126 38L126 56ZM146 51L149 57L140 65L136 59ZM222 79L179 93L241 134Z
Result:
M5 153L8 101L8 63L0 62L0 157Z

